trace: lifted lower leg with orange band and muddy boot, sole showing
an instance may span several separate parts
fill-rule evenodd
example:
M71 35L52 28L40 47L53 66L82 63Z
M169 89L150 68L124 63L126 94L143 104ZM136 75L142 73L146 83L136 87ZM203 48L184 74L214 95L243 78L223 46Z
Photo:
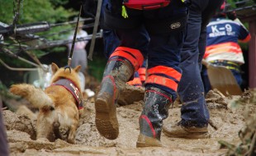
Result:
M116 139L119 134L116 117L118 96L126 82L131 80L134 72L142 66L144 57L141 51L145 51L149 42L143 26L129 31L117 30L117 34L122 41L121 46L108 58L95 102L97 130L110 140Z

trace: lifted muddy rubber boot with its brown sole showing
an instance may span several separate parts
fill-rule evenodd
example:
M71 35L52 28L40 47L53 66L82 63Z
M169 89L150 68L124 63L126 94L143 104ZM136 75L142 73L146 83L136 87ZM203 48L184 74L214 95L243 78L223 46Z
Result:
M111 58L105 68L102 85L95 101L95 123L97 131L109 140L115 140L119 134L116 101L134 71L130 62L120 57Z

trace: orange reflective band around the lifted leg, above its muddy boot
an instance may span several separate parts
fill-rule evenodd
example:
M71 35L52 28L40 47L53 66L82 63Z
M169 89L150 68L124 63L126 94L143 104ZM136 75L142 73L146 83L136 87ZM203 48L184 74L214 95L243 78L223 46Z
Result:
M135 67L135 71L142 66L144 61L144 57L140 53L140 50L127 47L117 47L110 57L125 57Z

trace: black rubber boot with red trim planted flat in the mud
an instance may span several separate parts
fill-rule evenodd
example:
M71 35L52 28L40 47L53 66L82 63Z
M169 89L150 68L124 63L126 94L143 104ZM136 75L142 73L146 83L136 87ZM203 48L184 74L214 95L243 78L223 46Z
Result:
M172 95L164 90L150 87L145 91L145 104L140 115L140 135L137 147L161 147L163 120L168 117L168 108L173 103Z

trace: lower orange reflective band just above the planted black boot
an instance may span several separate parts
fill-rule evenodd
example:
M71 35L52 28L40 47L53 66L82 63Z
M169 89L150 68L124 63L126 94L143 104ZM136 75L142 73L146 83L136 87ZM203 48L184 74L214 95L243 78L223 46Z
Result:
M173 89L174 91L177 91L177 88L178 88L178 84L174 80L168 79L163 76L154 76L154 75L149 76L146 79L145 84L164 85L169 89Z

